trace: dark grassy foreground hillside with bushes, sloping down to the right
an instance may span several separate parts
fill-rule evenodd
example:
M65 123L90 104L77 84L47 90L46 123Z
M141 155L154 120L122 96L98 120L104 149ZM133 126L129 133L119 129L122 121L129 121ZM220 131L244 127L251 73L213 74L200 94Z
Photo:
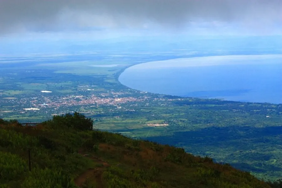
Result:
M92 129L79 113L36 127L0 119L0 187L280 187L184 149Z

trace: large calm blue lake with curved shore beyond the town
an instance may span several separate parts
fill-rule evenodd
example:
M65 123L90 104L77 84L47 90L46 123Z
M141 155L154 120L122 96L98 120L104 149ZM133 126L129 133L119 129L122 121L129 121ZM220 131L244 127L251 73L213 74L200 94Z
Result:
M282 103L282 55L232 55L154 61L126 69L130 88L182 97Z

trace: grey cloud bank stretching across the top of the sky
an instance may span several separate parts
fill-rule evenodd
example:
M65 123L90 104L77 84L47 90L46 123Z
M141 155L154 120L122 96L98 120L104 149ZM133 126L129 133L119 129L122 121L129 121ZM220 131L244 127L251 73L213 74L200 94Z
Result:
M275 32L281 0L0 0L0 33L211 28ZM277 29L279 28L279 29Z

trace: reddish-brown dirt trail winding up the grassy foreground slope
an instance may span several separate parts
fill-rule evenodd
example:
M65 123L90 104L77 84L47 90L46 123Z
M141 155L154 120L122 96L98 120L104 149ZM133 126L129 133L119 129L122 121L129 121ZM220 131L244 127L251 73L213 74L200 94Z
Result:
M101 164L102 167L97 168L91 168L86 170L85 172L81 173L79 176L76 177L74 180L76 186L82 188L83 184L86 182L88 178L95 179L97 182L97 187L103 187L102 186L102 174L106 167L110 166L107 161L98 159L96 156L83 154L83 152L79 151L79 154L88 157L89 159L92 159L94 162Z

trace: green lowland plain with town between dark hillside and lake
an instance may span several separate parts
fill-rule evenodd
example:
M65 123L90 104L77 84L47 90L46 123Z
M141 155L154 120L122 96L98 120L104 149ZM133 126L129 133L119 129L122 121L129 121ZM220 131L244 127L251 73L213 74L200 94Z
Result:
M99 51L95 55L36 55L31 63L17 66L2 63L0 118L44 122L54 115L80 112L99 130L181 147L196 156L208 155L259 179L282 178L281 104L165 96L136 91L118 82L120 73L133 64L184 57L150 54ZM169 126L150 127L150 123ZM59 124L53 124L54 128Z

